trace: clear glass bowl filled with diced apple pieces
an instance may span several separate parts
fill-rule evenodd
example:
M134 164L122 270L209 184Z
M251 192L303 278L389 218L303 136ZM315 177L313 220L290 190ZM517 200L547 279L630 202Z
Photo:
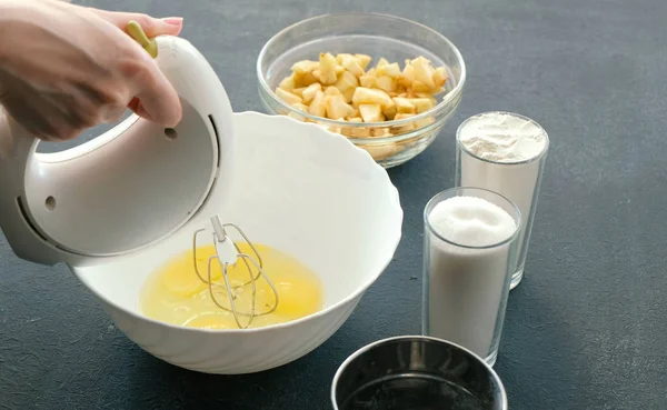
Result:
M266 109L347 137L385 168L421 153L458 107L461 53L385 14L326 14L273 36L257 61Z

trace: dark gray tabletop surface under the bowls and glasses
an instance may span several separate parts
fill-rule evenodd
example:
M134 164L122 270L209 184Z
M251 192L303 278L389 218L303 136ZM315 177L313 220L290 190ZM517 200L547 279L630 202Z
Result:
M261 110L255 61L283 27L380 11L449 37L464 101L424 154L390 171L405 238L358 310L315 352L212 377L145 353L64 267L18 260L0 237L0 409L330 409L337 367L374 340L420 331L421 211L454 183L454 131L486 110L551 138L527 277L511 292L496 369L512 410L664 409L667 402L667 2L580 0L79 0L183 16L236 111ZM275 9L273 9L275 8Z

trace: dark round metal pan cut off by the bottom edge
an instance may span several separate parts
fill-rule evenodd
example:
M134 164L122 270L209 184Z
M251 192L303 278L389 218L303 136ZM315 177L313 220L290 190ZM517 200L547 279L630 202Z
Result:
M335 410L507 410L496 372L445 340L404 336L357 350L331 386Z

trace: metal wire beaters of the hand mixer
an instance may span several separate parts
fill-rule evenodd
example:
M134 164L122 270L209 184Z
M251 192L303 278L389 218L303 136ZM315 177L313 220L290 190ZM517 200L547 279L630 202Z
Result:
M198 229L192 237L192 248L193 248L193 258L192 259L193 259L193 263L195 263L195 272L197 272L197 276L199 277L199 279L201 279L202 282L208 284L209 292L211 294L211 299L212 299L213 303L216 303L220 309L225 309L225 310L233 313L233 319L236 320L238 327L241 329L247 329L252 323L252 320L256 317L269 314L278 308L278 291L276 290L276 287L273 286L273 283L271 282L269 277L267 277L265 274L261 257L259 256L259 252L257 251L257 249L255 248L252 242L250 242L248 237L246 237L243 231L241 231L241 229L233 223L225 223L223 224L222 222L220 222L220 218L218 216L211 217L210 221L211 221L211 227L212 227L211 234L213 237L213 246L216 247L216 254L211 256L208 259L208 263L207 263L208 274L205 278L199 272L199 268L197 267L197 236L200 233L207 232L207 229L206 228ZM243 238L243 240L248 243L248 246L250 246L250 249L255 253L255 258L257 258L257 260L255 260L255 258L252 258L251 256L241 252L238 244L231 238L229 238L229 236L227 234L227 229L229 229L229 228L235 229ZM239 259L241 259L243 261L243 263L246 264L246 268L248 269L249 280L243 282L242 284L231 287L229 283L229 276L227 274L227 270L230 266L232 266L232 267L236 266L236 263L238 262ZM217 283L213 283L213 281L211 280L211 263L213 262L213 260L217 260L220 266L220 270L222 271L222 277L225 279L225 284L217 284ZM248 263L248 261L250 261L250 263ZM257 273L252 272L252 269L250 267L251 264L257 269ZM257 299L256 281L259 279L259 277L262 277L267 281L267 283L271 288L273 296L276 298L275 299L276 302L271 307L269 307L268 310L261 311L261 312L257 312L257 309L255 307L256 299ZM248 284L252 286L252 307L249 312L242 312L242 311L239 311L235 304L235 300L237 299L236 293L238 292L239 289L241 289ZM227 290L227 297L229 298L229 307L226 307L218 301L218 299L216 298L215 291L213 291L215 287L223 287ZM240 316L249 318L246 326L241 324L241 321L239 320Z

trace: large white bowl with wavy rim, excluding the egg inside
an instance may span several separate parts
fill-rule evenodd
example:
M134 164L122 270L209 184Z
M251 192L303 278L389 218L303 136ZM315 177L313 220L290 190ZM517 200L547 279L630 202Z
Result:
M180 233L109 264L72 268L118 329L143 350L181 368L249 373L309 353L347 320L391 261L402 210L387 172L345 137L281 116L235 114L236 181L228 202L212 199ZM218 203L215 203L218 202ZM303 319L251 330L203 330L143 317L139 293L165 259L191 247L210 212L251 240L286 251L318 273L325 308Z

